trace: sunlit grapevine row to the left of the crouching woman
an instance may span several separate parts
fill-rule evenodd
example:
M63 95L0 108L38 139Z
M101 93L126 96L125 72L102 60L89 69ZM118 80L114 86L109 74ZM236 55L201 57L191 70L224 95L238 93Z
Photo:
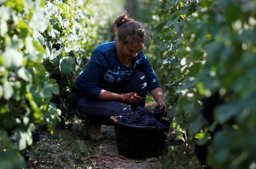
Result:
M0 2L0 168L25 168L39 125L53 133L76 119L75 77L117 12L105 1L110 8L101 10L99 1Z

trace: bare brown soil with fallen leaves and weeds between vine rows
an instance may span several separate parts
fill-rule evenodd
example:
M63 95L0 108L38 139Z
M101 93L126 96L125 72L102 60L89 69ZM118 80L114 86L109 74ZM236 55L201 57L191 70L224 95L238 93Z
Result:
M80 124L76 123L72 129L59 129L55 131L55 136L48 131L41 131L41 139L43 144L38 148L37 155L28 163L28 169L32 168L86 168L86 169L146 169L159 168L161 158L147 158L144 160L129 159L118 154L115 129L114 126L101 126L101 133L104 138L98 142L91 142L88 145L86 140L78 139L76 142L84 143L86 149L84 156L81 157L78 153L72 150L63 150L61 145L70 144L68 140L54 141L52 138L69 135L77 137ZM57 135L57 136L56 136ZM79 138L79 137L78 137ZM77 144L76 143L76 144ZM52 145L54 144L54 145ZM49 148L49 147L52 147ZM79 148L79 147L78 147ZM48 152L48 153L46 153ZM90 152L90 153L89 153ZM47 154L45 156L45 154ZM80 156L80 157L79 157ZM68 157L68 158L63 158ZM72 157L72 158L71 158ZM79 162L75 160L79 158ZM75 162L76 161L76 162ZM82 162L81 162L82 161ZM55 164L56 163L56 164ZM81 166L82 163L82 166Z

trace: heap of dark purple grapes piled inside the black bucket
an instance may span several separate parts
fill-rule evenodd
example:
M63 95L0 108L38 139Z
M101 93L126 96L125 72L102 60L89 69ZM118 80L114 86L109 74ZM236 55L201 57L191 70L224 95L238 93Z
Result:
M133 114L118 116L118 122L140 127L164 128L160 121L154 118L153 112L146 107L137 107Z

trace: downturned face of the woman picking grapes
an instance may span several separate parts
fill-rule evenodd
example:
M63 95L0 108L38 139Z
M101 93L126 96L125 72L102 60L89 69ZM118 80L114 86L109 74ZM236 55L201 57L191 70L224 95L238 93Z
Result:
M126 56L130 59L133 57L138 56L138 53L140 53L140 50L143 48L144 44L141 43L129 43L129 44L124 44L120 48L120 52L122 53L123 56Z

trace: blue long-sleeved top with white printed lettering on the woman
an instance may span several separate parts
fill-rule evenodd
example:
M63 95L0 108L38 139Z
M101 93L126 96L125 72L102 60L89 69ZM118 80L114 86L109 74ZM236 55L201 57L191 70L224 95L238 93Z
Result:
M100 44L94 49L91 59L85 70L76 78L78 91L76 94L86 94L99 99L102 89L111 91L120 83L132 76L137 70L142 71L148 78L148 92L160 87L155 72L141 50L137 57L133 58L134 66L123 66L116 54L114 42Z

